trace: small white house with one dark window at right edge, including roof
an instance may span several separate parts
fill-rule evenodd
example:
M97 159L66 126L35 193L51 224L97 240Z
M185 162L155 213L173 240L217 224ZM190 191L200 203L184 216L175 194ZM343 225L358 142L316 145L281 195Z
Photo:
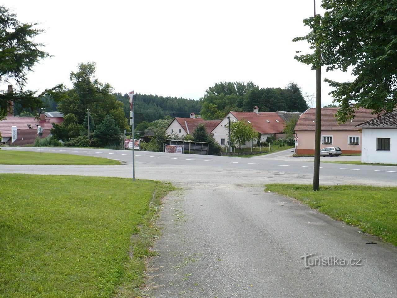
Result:
M363 163L397 164L397 110L358 124Z

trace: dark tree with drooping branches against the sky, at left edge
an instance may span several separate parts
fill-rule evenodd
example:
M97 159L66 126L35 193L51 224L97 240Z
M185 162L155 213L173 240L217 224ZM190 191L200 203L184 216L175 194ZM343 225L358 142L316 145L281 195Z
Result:
M0 6L0 83L15 83L12 93L0 91L0 120L6 116L10 104L17 114L22 110L33 111L42 106L41 97L60 88L56 86L36 95L36 91L23 90L27 83L27 74L35 64L49 56L41 48L41 43L33 39L42 33L37 23L22 23L17 15L4 6Z

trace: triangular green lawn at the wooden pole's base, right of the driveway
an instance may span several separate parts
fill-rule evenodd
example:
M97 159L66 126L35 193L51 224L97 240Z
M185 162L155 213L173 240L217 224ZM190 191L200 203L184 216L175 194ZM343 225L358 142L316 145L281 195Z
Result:
M293 197L333 219L358 226L397 245L397 188L374 186L320 186L269 184L266 191Z

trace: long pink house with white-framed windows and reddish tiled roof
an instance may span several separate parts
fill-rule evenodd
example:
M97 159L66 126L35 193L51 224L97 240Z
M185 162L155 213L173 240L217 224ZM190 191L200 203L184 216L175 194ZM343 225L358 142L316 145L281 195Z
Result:
M342 153L361 153L362 131L356 125L374 118L372 110L357 109L355 118L339 124L335 114L338 108L321 109L321 149L325 147L340 147ZM295 126L298 137L298 155L314 154L314 136L316 128L316 108L309 108L301 116Z

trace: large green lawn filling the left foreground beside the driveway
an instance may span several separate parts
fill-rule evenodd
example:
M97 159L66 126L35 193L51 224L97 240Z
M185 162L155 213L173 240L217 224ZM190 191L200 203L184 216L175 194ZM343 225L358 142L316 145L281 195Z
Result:
M136 297L170 184L0 174L0 296Z

